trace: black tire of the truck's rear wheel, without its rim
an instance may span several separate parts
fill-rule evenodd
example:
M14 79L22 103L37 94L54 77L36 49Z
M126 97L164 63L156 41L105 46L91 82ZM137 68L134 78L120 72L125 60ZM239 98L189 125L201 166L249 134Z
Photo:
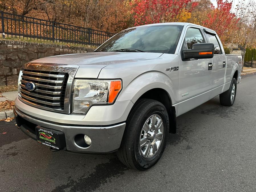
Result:
M233 85L235 86L235 95L236 95L236 87L237 87L237 82L235 80L235 78L232 79L229 89L227 91L225 91L224 93L220 94L220 104L224 105L224 106L232 106L235 102L235 95L233 96L233 99L231 99L231 92L232 92L232 88Z

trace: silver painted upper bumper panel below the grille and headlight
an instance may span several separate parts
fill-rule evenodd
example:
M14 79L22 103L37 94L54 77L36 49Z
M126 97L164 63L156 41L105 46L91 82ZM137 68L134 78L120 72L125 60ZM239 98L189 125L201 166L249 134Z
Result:
M56 113L32 107L23 103L19 96L15 99L15 107L35 119L43 119L55 124L72 124L78 126L108 126L126 121L133 107L132 101L119 101L113 105L94 105L83 114Z

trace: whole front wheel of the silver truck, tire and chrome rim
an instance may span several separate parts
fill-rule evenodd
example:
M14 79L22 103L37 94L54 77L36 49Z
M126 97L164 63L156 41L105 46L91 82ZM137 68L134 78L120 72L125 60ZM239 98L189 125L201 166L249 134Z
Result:
M117 156L126 166L144 171L161 157L168 134L169 119L164 105L140 99L127 119Z

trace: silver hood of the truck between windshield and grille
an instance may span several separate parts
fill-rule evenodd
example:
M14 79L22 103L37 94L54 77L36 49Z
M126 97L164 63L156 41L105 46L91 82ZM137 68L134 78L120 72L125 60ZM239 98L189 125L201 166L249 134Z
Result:
M97 78L102 68L136 61L152 60L162 53L148 52L92 52L82 54L67 54L40 58L33 63L52 63L65 65L78 65L76 78Z

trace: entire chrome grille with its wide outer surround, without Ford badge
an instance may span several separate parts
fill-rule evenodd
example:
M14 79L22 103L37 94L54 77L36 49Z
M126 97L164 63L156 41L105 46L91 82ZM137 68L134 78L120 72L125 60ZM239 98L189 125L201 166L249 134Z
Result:
M39 109L70 113L73 81L78 68L72 64L24 64L19 75L19 99ZM26 89L27 82L33 82L36 89Z

